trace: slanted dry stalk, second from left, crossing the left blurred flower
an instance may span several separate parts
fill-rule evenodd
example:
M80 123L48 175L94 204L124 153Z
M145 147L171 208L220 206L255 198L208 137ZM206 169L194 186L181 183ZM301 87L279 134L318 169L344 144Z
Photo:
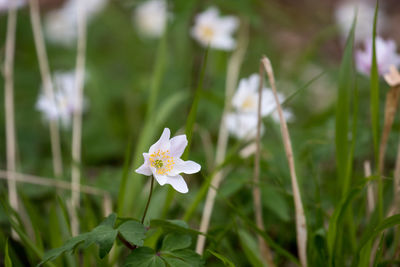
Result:
M40 75L42 77L43 90L49 99L54 99L53 82L50 75L49 61L46 53L46 46L43 38L42 26L40 23L40 10L38 0L29 0L30 17L35 40L36 53L39 61ZM53 169L56 178L62 176L62 156L60 145L60 133L58 122L50 120L50 141L53 154Z

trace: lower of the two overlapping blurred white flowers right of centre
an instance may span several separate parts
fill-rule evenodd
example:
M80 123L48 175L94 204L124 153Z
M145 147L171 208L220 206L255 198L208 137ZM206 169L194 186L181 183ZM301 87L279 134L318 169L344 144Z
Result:
M250 141L257 136L257 115L251 113L229 113L225 118L228 131L237 139ZM261 135L264 125L261 124Z

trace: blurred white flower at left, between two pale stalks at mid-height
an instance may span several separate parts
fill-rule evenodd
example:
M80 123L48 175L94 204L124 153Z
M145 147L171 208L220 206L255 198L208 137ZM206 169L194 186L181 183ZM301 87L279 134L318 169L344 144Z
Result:
M77 101L75 87L75 72L57 72L54 74L54 99L42 92L36 103L36 108L47 120L60 120L63 126L70 125L75 112L83 109L84 103ZM43 91L43 90L42 90Z

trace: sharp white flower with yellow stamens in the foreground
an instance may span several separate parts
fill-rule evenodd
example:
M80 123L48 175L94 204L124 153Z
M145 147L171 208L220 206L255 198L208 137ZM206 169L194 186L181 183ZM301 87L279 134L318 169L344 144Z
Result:
M187 146L186 135L170 139L171 132L165 128L160 139L150 147L149 153L143 153L144 163L136 172L151 176L160 185L170 184L176 191L189 191L180 173L192 174L200 171L201 166L194 161L180 159Z

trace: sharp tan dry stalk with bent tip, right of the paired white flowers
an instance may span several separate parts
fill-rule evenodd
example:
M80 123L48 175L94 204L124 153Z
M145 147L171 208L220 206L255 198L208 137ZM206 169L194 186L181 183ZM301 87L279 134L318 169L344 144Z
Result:
M275 77L272 69L270 60L267 57L262 58L265 71L267 72L268 79L274 93L274 98L279 114L279 120L281 124L281 133L283 138L283 144L285 147L286 157L289 163L290 177L292 182L293 199L296 211L296 232L297 232L297 249L300 257L300 262L303 267L307 266L307 225L306 217L304 214L303 203L301 200L301 194L299 185L297 182L296 169L293 159L293 149L290 140L289 130L287 128L286 119L283 116L281 104L279 102L278 93L275 85Z

